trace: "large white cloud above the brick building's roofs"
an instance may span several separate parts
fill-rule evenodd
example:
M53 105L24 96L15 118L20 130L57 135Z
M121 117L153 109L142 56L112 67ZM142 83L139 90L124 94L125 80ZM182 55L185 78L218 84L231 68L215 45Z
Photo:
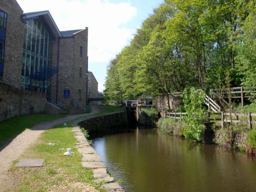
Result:
M89 28L90 62L108 62L128 44L134 29L121 27L137 9L130 3L108 0L17 0L24 12L49 10L62 30Z

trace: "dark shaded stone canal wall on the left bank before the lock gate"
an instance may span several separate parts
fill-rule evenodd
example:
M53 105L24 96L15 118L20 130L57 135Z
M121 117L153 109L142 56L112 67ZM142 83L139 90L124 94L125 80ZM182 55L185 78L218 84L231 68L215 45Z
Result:
M128 125L127 112L113 113L98 117L93 117L79 122L79 125L88 130L89 133L101 132L112 127Z

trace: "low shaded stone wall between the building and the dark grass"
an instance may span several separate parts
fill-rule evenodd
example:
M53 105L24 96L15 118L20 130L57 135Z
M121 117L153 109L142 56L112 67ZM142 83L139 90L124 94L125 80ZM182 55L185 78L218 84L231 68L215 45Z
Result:
M45 93L18 89L0 82L0 121L30 113L45 112Z

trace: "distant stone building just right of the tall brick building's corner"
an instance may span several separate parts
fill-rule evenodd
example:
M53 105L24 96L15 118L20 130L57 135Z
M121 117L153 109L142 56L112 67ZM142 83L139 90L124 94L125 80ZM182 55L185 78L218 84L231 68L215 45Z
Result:
M89 87L89 99L91 98L98 98L98 81L96 80L93 72L88 71L88 87ZM97 105L97 101L91 101L90 105Z

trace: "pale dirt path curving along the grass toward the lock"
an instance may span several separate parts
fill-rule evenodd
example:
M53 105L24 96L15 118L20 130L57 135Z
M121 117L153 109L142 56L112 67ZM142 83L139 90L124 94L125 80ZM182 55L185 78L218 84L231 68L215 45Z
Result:
M78 117L95 114L97 112L97 108L92 108L91 113L70 115L50 122L42 122L30 129L26 129L15 137L9 145L0 151L0 191L12 189L13 185L17 183L17 180L9 173L12 162L19 158L29 145L34 144L42 132L55 125L63 124L64 122L74 120Z

